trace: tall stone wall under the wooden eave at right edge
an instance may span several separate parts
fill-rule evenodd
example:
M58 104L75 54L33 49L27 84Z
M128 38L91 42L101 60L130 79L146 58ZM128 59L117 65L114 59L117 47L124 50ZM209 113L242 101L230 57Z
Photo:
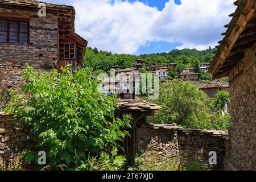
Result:
M225 169L256 170L256 46L229 75L230 150Z

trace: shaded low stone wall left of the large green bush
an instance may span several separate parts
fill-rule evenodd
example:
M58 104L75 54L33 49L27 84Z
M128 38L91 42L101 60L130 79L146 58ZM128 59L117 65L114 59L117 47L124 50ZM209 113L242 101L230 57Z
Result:
M12 114L0 113L0 160L9 160L13 154L18 154L24 149L31 150L33 142L27 142L30 130L20 127Z

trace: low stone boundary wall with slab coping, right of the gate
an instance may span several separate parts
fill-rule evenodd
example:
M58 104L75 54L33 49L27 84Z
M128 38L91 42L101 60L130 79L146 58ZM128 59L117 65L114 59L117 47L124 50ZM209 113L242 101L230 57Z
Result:
M142 125L137 127L138 154L145 160L156 155L167 162L189 151L209 159L209 152L216 151L213 169L223 169L227 135L225 131L188 130L175 125Z

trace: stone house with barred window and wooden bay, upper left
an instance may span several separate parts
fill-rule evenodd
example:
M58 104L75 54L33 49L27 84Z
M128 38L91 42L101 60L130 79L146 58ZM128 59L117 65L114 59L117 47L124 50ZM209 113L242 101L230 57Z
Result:
M67 64L74 71L82 66L86 40L75 33L75 9L72 6L31 0L0 1L0 77L18 88L26 63L40 71L51 71ZM2 88L3 81L1 85Z

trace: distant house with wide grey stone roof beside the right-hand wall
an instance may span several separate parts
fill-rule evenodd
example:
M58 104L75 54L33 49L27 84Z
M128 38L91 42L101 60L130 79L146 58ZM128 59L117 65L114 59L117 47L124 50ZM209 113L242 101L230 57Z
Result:
M218 79L213 81L196 81L193 84L204 91L210 98L214 98L220 90L229 90L229 83Z

